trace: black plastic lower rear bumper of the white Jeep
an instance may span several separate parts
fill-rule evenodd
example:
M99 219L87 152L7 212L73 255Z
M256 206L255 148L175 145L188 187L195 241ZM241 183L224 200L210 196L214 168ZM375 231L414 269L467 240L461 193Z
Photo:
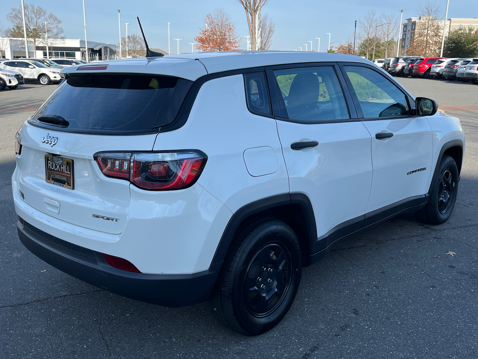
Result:
M63 272L122 296L167 307L204 302L222 262L194 274L144 274L111 267L99 252L51 236L31 224L17 223L22 244Z

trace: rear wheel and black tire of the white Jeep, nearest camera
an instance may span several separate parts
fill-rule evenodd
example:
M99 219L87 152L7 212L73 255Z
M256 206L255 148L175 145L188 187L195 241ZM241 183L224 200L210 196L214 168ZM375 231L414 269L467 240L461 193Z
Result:
M301 274L300 245L292 228L273 218L256 220L235 236L209 297L209 308L228 329L259 335L287 313Z

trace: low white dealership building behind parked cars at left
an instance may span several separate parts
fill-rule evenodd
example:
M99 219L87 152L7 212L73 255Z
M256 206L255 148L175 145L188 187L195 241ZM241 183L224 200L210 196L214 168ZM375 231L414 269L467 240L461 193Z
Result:
M37 39L36 48L32 39L28 40L28 56L47 58L86 59L85 40L80 39ZM25 39L15 37L0 37L0 58L25 57ZM88 61L101 61L116 58L116 45L88 41Z

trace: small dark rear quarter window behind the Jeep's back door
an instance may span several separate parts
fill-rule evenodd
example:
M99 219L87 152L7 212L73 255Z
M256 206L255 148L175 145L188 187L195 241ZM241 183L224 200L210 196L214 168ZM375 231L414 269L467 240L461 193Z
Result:
M246 84L247 104L252 112L271 114L271 104L267 93L264 72L244 74Z

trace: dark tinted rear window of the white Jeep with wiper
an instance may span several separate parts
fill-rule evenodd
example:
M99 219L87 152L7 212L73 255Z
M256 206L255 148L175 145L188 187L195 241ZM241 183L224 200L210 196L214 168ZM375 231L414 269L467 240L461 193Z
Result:
M70 76L33 115L34 124L61 116L64 131L146 134L174 121L193 81L161 75ZM42 121L39 121L41 118ZM46 120L45 120L46 118Z

